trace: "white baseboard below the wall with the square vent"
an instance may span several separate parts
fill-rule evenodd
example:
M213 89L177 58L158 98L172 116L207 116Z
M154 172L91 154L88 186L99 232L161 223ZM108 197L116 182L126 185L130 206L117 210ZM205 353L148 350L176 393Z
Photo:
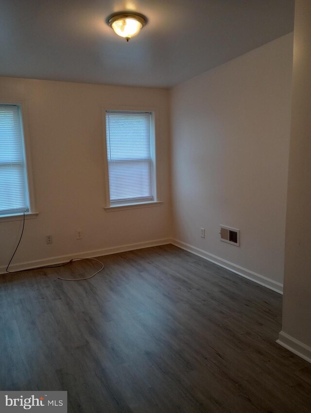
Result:
M220 267L225 268L226 270L232 271L233 273L241 275L244 278L257 282L257 284L263 285L270 290L276 291L276 293L283 294L283 285L279 282L276 282L263 275L254 273L253 271L247 270L246 268L240 267L239 265L233 264L232 262L226 261L223 258L217 257L216 255L209 254L207 251L186 244L186 242L172 240L171 243L173 245L176 245L176 247L189 251L201 258L205 258L207 259L207 261L213 262L214 264L217 264Z

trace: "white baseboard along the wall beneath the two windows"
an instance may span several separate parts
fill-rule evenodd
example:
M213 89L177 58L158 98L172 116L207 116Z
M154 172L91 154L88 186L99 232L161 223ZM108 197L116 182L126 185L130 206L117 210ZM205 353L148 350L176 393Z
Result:
M68 254L68 255L60 255L58 257L38 259L38 260L35 260L35 261L20 262L18 264L10 265L10 270L11 271L30 270L32 268L44 267L46 265L62 264L64 262L67 262L70 259L74 259L74 258L100 257L100 256L103 256L103 255L117 254L119 252L132 251L132 250L137 250L137 249L141 249L141 248L155 247L157 245L170 244L171 241L172 240L170 238L163 238L161 240L137 242L135 244L120 245L120 246L117 246L117 247L104 248L104 249L92 250L92 251L85 251L85 252L80 252L80 253L76 253L76 254L73 253L73 254ZM6 266L0 267L0 275L1 274L7 274L5 269L6 269Z

